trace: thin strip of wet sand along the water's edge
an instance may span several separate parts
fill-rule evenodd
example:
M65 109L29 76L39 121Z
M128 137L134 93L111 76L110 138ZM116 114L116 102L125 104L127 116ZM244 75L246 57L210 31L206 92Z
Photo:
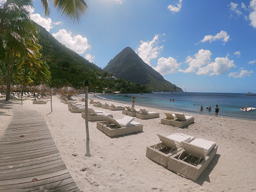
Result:
M104 97L100 97L98 95L105 95L104 93L99 93L97 95L95 95L95 97L99 98L99 99L103 99L103 100L109 100L109 101L112 101L112 102L119 102L119 103L122 103L122 104L132 104L131 102L122 102L120 100L113 100L113 99L106 99ZM203 116L215 116L215 115L207 115L207 114L202 114L200 112L196 113L195 111L188 111L188 110L182 110L182 109L175 109L175 108L168 108L168 109L165 109L165 108L156 108L156 107L152 107L152 106L144 106L144 105L140 105L140 104L136 104L135 103L135 106L141 106L141 107L147 107L147 108L154 108L154 109L157 109L157 110L164 110L164 111L177 111L177 112L180 112L180 113L190 113L190 114L194 114L194 115L203 115ZM237 119L237 120L249 120L249 121L253 121L253 122L256 122L256 119L251 119L251 118L239 118L239 117L236 117L236 116L224 116L224 115L218 115L216 117L223 117L223 118L230 118L230 119Z

